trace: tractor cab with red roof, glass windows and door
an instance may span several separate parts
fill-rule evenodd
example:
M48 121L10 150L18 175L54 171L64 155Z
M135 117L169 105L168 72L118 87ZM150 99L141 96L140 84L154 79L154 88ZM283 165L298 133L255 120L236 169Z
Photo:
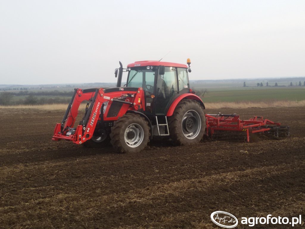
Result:
M145 92L145 115L166 115L172 100L190 93L188 67L160 61L137 61L128 64L126 87L142 87Z

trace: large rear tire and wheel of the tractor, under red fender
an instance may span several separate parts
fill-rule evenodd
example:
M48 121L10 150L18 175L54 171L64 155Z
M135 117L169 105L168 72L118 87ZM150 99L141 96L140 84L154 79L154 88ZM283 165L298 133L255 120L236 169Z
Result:
M199 143L206 129L203 107L195 100L182 100L169 120L170 138L176 145Z

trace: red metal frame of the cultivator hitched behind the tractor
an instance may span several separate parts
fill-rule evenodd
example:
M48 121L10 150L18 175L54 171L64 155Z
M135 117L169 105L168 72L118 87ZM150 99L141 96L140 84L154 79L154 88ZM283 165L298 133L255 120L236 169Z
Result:
M249 142L249 133L258 133L271 130L269 125L280 126L279 122L272 122L263 117L250 118L249 120L240 120L239 115L226 117L221 115L205 115L206 116L206 135L213 136L215 130L224 131L245 131L247 133L246 141Z

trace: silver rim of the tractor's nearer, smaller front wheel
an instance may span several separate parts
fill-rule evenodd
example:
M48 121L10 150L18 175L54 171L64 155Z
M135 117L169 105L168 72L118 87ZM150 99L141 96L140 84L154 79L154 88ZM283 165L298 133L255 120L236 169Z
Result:
M129 125L124 133L124 140L129 147L138 147L144 139L144 130L142 126L132 123Z

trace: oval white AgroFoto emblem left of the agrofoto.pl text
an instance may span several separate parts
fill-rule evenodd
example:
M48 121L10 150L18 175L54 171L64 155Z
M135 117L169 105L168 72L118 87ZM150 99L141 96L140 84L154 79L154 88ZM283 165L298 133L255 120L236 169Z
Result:
M214 224L225 227L225 228L233 228L238 224L238 220L231 213L216 211L211 214L211 220Z

